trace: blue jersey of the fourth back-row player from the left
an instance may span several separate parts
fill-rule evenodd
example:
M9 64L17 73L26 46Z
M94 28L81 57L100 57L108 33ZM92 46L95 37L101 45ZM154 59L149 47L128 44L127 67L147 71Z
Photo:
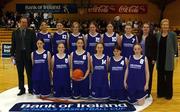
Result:
M93 55L95 54L95 46L101 41L101 35L97 33L96 35L87 34L87 51Z

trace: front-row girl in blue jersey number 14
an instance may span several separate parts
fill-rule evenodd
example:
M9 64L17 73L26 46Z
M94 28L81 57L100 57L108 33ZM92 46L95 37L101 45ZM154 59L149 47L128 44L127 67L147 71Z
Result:
M96 54L91 56L91 96L95 99L109 98L108 60L103 54L103 43L96 44Z

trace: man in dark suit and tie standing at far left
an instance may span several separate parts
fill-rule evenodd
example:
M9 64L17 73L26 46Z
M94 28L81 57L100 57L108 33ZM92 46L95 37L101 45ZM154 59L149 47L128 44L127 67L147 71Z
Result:
M12 47L11 58L15 60L18 72L18 82L20 92L18 96L25 94L24 88L24 68L26 69L28 79L28 91L32 94L31 86L31 52L35 50L35 37L34 31L28 29L28 20L22 17L19 22L19 28L12 33ZM14 61L13 61L14 62Z

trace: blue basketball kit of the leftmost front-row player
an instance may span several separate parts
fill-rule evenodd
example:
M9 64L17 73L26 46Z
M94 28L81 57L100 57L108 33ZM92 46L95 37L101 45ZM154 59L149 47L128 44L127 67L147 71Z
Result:
M49 95L51 92L50 74L48 67L48 52L39 54L33 52L32 88L36 95Z

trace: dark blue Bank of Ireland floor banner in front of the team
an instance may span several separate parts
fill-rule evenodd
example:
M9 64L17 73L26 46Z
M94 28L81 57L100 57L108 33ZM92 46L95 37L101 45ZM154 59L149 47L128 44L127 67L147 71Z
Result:
M89 102L55 103L26 102L17 103L10 112L131 112L135 107L127 102Z

